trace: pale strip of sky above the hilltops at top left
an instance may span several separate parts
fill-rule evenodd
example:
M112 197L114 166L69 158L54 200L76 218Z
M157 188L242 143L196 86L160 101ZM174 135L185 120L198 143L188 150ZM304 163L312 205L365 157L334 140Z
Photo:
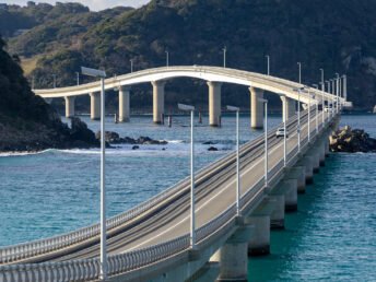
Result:
M20 4L20 5L25 5L28 0L0 0L0 3L7 3L7 4ZM33 0L34 2L43 2L43 3L50 3L55 4L55 2L80 2L86 7L90 8L92 11L99 11L104 10L106 8L114 8L117 5L124 5L124 7L134 7L139 8L148 2L150 0L44 0L44 1L38 1L38 0Z

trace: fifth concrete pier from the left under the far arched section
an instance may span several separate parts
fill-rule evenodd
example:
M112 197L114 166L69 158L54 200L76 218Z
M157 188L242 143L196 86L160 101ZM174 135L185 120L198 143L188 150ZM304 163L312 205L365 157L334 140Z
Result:
M221 118L222 82L208 81L209 86L209 126L218 127Z

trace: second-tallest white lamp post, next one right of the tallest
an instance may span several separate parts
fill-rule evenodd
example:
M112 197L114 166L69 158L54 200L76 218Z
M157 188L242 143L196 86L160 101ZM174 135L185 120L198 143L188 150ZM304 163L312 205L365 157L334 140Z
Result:
M195 107L184 104L177 104L181 110L190 111L190 247L196 247L195 231L195 146L193 146L193 117Z

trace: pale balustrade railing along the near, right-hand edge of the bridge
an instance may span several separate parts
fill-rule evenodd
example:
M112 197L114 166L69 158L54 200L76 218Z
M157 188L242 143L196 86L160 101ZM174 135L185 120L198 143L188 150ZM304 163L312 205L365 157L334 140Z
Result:
M334 118L336 116L333 116ZM307 133L303 138L307 141ZM289 161L296 154L297 144L289 152ZM283 166L283 160L278 162L270 171L271 177L275 176ZM259 189L263 187L263 177L261 177L248 191L243 195L240 201L245 203ZM232 204L224 212L212 221L205 223L197 230L198 240L210 236L213 232L224 227L236 213L235 204ZM174 254L189 248L189 234L172 240L133 250L120 255L108 257L108 274L114 275L136 268L140 268L161 259L167 258ZM64 261L51 263L35 265L14 265L0 267L0 281L86 281L95 280L99 275L99 260L86 259L79 261Z

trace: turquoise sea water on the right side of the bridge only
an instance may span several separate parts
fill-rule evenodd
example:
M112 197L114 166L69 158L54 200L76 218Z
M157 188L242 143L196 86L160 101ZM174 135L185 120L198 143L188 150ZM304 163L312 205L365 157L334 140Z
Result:
M344 125L376 138L376 115L344 115ZM376 281L376 154L330 154L271 232L270 252L249 259L249 281Z

